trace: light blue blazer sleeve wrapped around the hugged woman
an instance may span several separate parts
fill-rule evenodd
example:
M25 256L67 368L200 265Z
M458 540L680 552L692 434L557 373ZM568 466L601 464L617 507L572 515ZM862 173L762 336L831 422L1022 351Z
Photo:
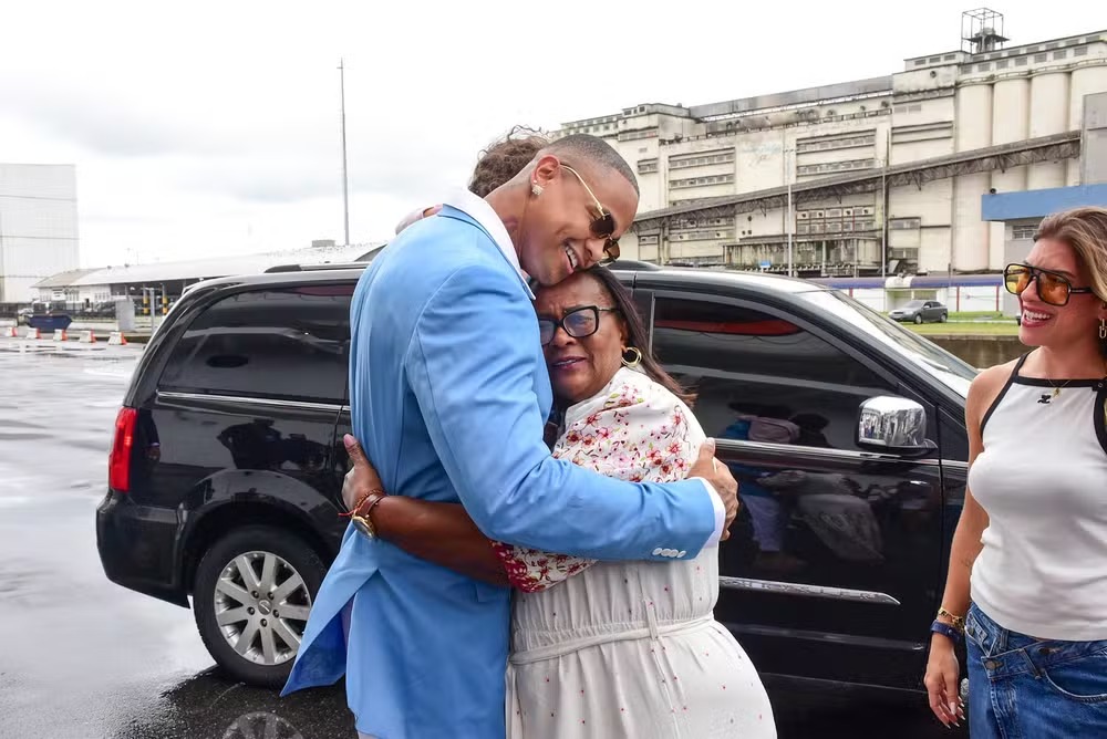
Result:
M701 480L625 482L550 456L539 350L518 279L492 266L453 272L417 321L408 382L473 521L490 539L598 560L695 556L715 531Z

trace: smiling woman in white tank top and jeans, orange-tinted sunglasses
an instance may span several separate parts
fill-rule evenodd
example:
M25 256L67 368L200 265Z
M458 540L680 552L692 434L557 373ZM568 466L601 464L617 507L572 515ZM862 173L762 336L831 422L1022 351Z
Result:
M1107 736L1107 209L1049 216L1004 272L1033 351L981 373L925 684L973 739Z

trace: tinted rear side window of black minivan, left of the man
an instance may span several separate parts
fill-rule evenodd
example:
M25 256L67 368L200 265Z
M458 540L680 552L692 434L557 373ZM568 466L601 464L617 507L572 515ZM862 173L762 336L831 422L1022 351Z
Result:
M353 285L246 292L188 326L159 386L192 393L342 403Z

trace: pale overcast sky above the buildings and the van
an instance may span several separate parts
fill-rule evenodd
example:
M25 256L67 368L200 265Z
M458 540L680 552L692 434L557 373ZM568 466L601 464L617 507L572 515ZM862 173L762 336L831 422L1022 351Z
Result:
M341 242L344 58L369 242L516 123L891 74L977 1L7 0L0 162L76 165L85 267ZM1107 29L1103 2L994 9L1013 44Z

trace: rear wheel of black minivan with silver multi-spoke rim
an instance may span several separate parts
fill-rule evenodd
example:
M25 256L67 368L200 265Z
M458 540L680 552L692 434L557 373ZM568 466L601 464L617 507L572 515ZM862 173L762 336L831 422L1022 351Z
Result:
M204 646L236 679L282 687L325 573L319 554L287 530L231 531L196 570L193 614Z

